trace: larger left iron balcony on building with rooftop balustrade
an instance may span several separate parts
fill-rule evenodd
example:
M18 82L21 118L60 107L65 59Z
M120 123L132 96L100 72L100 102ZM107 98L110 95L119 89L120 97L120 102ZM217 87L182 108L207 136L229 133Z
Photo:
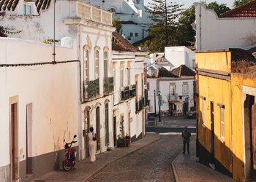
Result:
M97 95L99 95L99 79L89 81L88 84L83 81L83 100L91 100L96 98Z

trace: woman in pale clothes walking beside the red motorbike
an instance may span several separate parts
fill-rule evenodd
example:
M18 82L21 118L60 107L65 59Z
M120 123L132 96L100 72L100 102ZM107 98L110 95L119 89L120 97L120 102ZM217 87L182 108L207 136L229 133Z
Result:
M90 163L94 162L96 160L95 154L97 149L97 141L99 141L99 138L97 136L97 133L94 133L94 128L90 127L89 134L87 135L88 141L89 141L89 154L90 154Z

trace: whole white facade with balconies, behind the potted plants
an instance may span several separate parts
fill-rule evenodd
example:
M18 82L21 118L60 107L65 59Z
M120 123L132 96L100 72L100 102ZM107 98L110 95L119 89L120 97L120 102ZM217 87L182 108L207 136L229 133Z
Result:
M137 141L146 134L146 55L147 52L113 51L113 122L117 126L116 135L128 135L131 141ZM120 131L123 130L122 124L123 134Z

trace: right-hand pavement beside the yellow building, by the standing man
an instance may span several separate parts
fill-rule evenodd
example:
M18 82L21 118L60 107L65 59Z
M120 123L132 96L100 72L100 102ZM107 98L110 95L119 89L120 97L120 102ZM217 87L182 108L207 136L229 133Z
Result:
M197 162L195 140L190 143L190 154L179 154L172 162L172 167L177 182L233 181L227 175L223 175Z

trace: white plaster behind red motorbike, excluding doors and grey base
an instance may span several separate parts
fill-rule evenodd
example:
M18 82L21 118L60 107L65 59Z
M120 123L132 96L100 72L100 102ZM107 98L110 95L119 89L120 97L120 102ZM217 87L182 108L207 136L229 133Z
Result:
M75 60L75 51L56 47L56 61ZM0 38L0 64L52 61L52 46ZM79 63L0 67L0 167L10 164L9 99L18 96L19 159L26 156L26 105L32 103L31 154L63 149L78 133Z

